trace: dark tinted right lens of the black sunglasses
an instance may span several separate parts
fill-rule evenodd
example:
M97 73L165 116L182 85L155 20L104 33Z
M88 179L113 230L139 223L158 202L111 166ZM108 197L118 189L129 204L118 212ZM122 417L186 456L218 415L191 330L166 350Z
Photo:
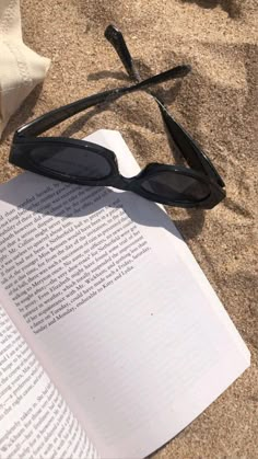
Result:
M141 186L144 191L171 202L194 203L204 199L210 194L206 183L174 171L159 172L156 175L146 177Z

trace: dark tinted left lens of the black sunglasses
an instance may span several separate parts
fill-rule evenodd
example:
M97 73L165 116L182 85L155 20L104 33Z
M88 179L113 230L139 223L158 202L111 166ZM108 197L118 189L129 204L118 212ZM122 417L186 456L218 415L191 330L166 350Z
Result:
M104 179L112 168L102 154L72 146L37 146L30 153L31 159L42 168L71 177Z

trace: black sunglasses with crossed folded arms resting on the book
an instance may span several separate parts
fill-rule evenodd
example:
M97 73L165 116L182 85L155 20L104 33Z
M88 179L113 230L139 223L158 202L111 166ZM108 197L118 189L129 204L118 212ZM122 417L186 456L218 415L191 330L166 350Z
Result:
M161 204L214 207L225 197L222 179L189 134L176 123L153 93L151 94L155 97L168 134L191 169L150 163L138 175L128 179L119 173L115 153L104 147L64 137L36 137L86 108L115 101L124 94L148 91L151 85L185 77L190 71L189 66L179 66L140 81L121 33L109 25L105 36L114 45L129 76L137 83L81 99L20 127L13 137L9 161L51 179L87 186L113 186Z

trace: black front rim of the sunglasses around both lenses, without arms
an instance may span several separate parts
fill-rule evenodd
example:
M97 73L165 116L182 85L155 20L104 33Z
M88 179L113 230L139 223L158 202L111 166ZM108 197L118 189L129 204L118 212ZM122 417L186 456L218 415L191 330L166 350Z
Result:
M67 175L61 172L55 172L48 168L37 164L33 158L30 156L30 152L34 150L34 147L40 147L46 145L52 146L57 144L58 146L63 145L64 147L80 148L85 151L85 153L97 153L106 159L110 167L110 173L104 179L83 179L79 176ZM85 140L78 140L67 137L35 137L27 138L16 135L13 141L13 148L10 154L10 161L22 169L28 170L36 174L45 175L49 179L59 180L62 182L86 185L86 186L113 186L122 191L130 191L139 194L142 197L145 197L149 200L159 202L160 204L165 204L175 207L201 207L201 208L212 208L218 204L218 199L221 200L222 196L219 194L219 186L211 182L210 179L198 171L192 169L185 168L181 165L169 165L169 164L160 164L160 163L149 163L144 169L141 170L139 174L133 177L125 177L120 174L117 163L116 154L97 144L93 144ZM166 199L163 196L157 196L151 192L148 192L141 187L141 183L145 181L146 177L156 175L160 172L169 172L186 175L194 177L204 184L210 188L210 194L202 200L192 203L192 202L176 202Z

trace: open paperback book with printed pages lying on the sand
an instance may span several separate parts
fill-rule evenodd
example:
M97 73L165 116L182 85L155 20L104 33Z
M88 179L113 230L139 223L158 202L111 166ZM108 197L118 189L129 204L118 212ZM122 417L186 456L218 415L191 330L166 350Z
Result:
M138 172L119 133L87 139ZM32 173L0 186L2 459L145 457L248 365L161 206Z

